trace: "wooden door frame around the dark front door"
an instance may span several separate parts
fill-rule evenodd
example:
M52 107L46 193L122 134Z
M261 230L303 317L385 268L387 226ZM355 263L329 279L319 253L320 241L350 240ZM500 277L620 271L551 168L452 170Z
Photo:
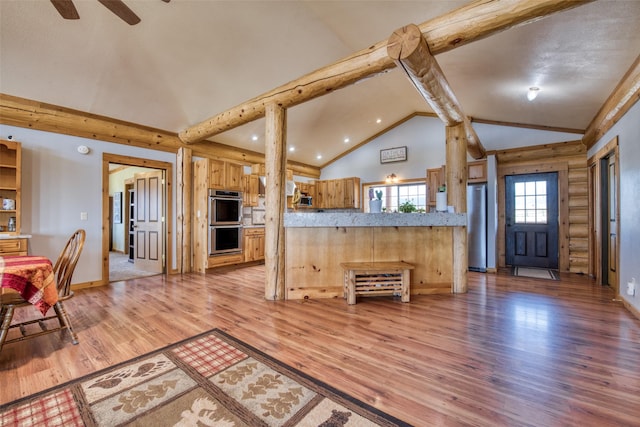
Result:
M505 176L531 173L558 173L558 271L569 272L569 164L566 161L542 165L498 165L498 266L506 267L506 200Z

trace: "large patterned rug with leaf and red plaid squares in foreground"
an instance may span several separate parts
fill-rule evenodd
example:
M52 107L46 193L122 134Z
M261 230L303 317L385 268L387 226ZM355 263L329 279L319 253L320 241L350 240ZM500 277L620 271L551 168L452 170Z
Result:
M407 426L214 329L0 406L0 426Z

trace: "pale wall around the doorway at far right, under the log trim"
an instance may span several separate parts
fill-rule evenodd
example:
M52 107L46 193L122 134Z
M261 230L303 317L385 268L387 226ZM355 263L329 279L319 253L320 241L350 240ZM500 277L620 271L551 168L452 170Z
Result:
M640 310L640 102L589 150L589 157L618 136L620 153L620 296ZM635 296L626 295L636 279Z

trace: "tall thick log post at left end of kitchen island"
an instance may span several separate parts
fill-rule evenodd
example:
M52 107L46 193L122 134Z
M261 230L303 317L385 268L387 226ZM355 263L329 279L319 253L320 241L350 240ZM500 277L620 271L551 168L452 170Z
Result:
M265 130L265 289L267 300L284 299L284 211L287 206L287 110L266 108Z

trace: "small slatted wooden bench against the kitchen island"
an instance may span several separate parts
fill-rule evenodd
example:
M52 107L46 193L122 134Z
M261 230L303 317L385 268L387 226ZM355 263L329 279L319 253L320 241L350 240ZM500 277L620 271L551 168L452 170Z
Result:
M409 302L412 264L397 262L343 262L344 297L355 304L356 296L400 295Z

